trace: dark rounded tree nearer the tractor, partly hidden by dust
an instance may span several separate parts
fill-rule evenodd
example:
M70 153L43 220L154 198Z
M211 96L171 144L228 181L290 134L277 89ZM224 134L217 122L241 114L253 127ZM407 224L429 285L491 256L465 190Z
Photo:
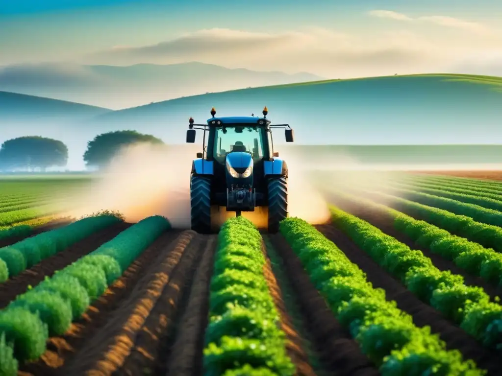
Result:
M164 142L151 134L142 134L135 130L119 130L102 133L87 142L87 150L84 153L84 161L87 166L102 167L118 152L122 146L148 142L163 144Z

